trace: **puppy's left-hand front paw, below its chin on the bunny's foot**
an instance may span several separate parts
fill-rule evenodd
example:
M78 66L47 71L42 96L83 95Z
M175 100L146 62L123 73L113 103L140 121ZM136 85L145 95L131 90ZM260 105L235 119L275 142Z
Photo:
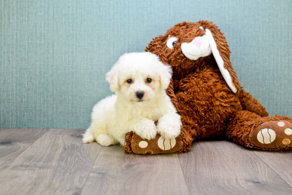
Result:
M135 126L135 133L142 139L152 140L157 134L157 129L152 120L143 120Z

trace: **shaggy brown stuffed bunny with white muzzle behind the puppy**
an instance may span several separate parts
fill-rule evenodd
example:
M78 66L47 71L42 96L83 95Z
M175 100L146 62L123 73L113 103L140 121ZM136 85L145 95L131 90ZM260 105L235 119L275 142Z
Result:
M126 152L180 153L188 151L195 139L222 135L259 150L292 149L292 120L267 117L265 108L242 89L229 59L229 46L215 24L176 24L153 39L146 51L172 66L167 93L183 125L175 140L159 134L153 140L142 140L130 132L125 137ZM148 144L144 147L140 142Z

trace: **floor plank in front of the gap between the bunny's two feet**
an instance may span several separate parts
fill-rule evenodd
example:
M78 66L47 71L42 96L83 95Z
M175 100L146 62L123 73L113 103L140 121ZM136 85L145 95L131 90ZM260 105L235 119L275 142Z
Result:
M292 191L254 150L229 141L197 141L178 159L190 194L283 195Z

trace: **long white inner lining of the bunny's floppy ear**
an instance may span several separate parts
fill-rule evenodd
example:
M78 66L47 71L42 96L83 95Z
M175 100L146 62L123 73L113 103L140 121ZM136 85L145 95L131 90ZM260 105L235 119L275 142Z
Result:
M208 38L208 41L209 41L209 44L210 44L210 47L211 47L211 51L213 53L213 56L214 56L214 58L216 60L216 63L218 65L218 67L219 67L219 70L220 70L224 80L226 81L227 85L232 90L232 92L236 93L237 89L235 88L235 86L232 83L232 78L230 76L230 73L228 72L227 69L224 68L224 61L220 56L220 53L219 53L219 51L217 49L217 45L216 45L216 42L214 40L214 37L213 37L211 31L209 29L205 29L205 35Z

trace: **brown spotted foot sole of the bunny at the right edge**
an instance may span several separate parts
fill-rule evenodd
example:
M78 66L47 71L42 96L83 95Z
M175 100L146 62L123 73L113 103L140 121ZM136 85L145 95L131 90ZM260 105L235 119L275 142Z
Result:
M249 141L260 148L291 147L292 123L285 120L270 120L255 127L249 133Z

